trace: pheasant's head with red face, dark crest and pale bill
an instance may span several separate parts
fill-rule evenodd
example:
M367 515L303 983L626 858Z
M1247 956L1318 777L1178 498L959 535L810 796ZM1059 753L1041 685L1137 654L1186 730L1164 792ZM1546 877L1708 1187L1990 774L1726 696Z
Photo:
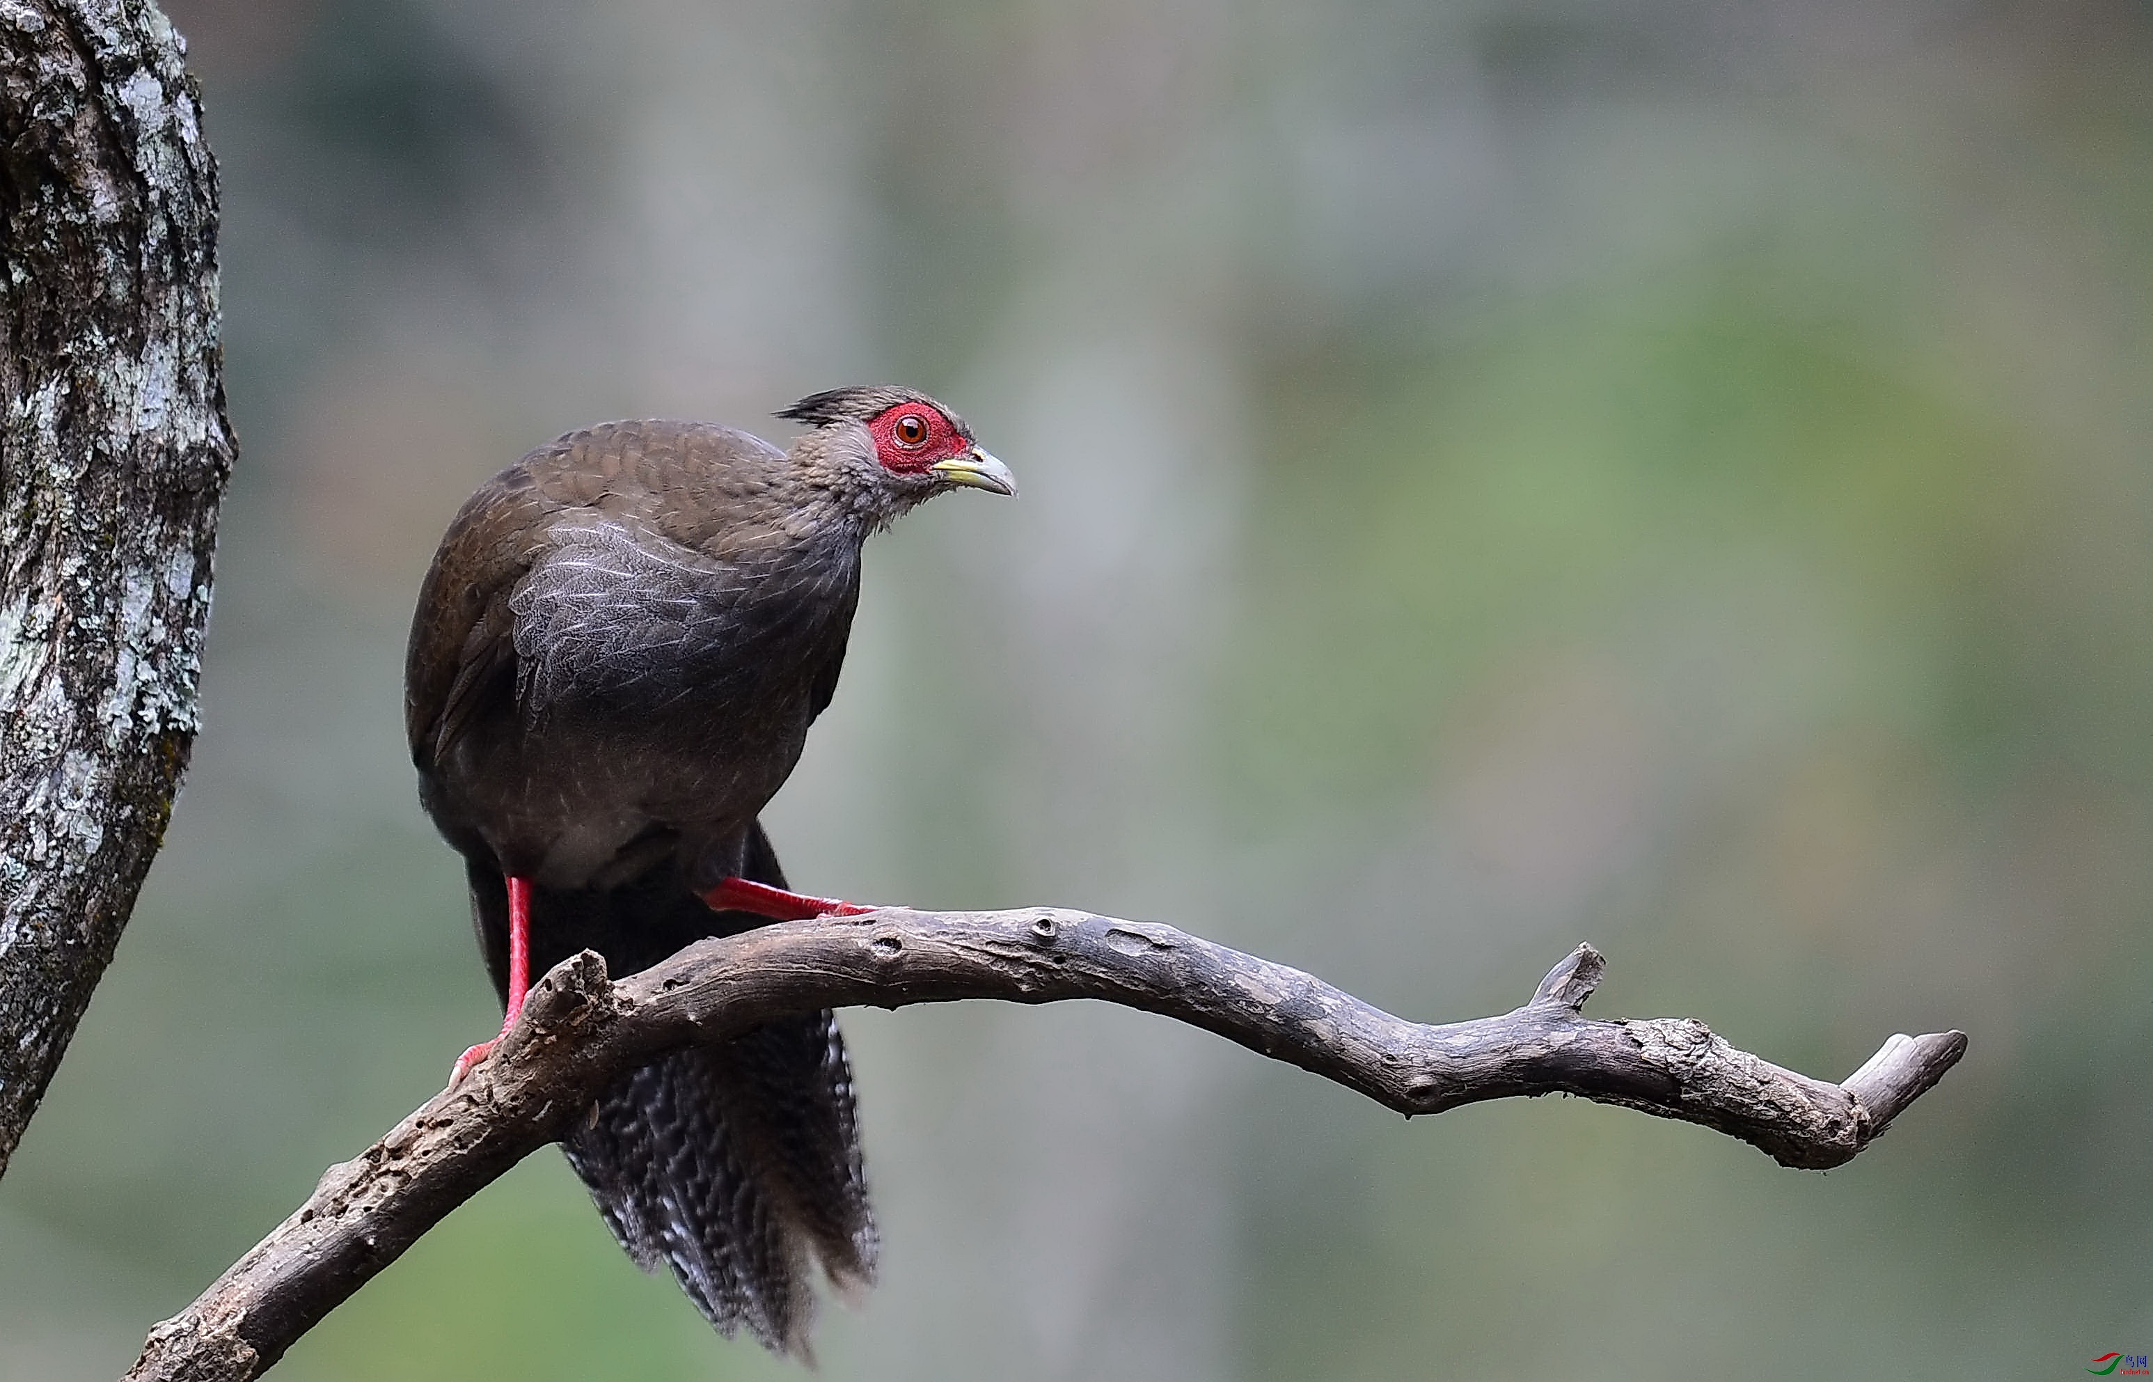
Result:
M973 441L965 420L913 390L827 390L777 415L814 428L792 446L794 461L822 471L876 525L945 489L1016 493L1016 476Z

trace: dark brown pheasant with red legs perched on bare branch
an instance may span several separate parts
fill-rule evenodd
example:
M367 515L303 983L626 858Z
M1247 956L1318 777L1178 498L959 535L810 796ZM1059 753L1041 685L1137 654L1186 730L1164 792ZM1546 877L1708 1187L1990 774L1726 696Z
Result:
M710 422L568 433L441 538L405 728L510 1023L532 969L586 947L624 975L764 917L863 911L788 891L758 814L838 689L868 534L947 489L1016 482L911 390L831 390L779 418L810 428L792 450ZM726 1337L805 1356L810 1264L840 1289L874 1281L829 1012L637 1070L566 1152L629 1255L667 1264Z

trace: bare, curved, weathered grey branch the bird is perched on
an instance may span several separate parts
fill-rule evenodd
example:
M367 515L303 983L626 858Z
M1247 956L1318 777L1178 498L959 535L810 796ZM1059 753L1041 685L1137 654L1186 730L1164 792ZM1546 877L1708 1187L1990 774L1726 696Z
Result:
M1705 1124L1787 1167L1837 1167L1964 1055L1957 1031L1895 1035L1845 1085L1735 1050L1688 1018L1578 1016L1606 962L1580 945L1498 1018L1427 1027L1322 979L1143 921L1068 911L825 917L702 941L607 982L590 951L534 990L495 1057L355 1160L194 1305L129 1380L241 1382L487 1182L558 1139L620 1074L818 1007L1104 999L1193 1023L1399 1113L1580 1094Z

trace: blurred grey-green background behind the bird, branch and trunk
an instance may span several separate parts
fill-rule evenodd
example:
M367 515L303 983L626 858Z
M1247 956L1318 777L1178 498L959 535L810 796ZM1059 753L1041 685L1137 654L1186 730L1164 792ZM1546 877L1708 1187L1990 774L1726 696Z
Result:
M1830 1175L1404 1124L1092 1005L848 1014L827 1378L2069 1378L2153 1345L2153 15L172 0L243 454L164 857L0 1184L0 1376L146 1326L497 1020L400 734L461 497L904 381L797 883L1169 919L1419 1018L1966 1063ZM782 424L762 424L786 435ZM777 1378L551 1152L280 1378Z

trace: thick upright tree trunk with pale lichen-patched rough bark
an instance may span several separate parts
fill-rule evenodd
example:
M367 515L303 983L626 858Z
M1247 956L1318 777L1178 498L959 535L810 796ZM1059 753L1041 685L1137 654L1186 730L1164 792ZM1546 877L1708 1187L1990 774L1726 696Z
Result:
M217 174L144 0L0 0L0 1173L194 743L217 499Z

